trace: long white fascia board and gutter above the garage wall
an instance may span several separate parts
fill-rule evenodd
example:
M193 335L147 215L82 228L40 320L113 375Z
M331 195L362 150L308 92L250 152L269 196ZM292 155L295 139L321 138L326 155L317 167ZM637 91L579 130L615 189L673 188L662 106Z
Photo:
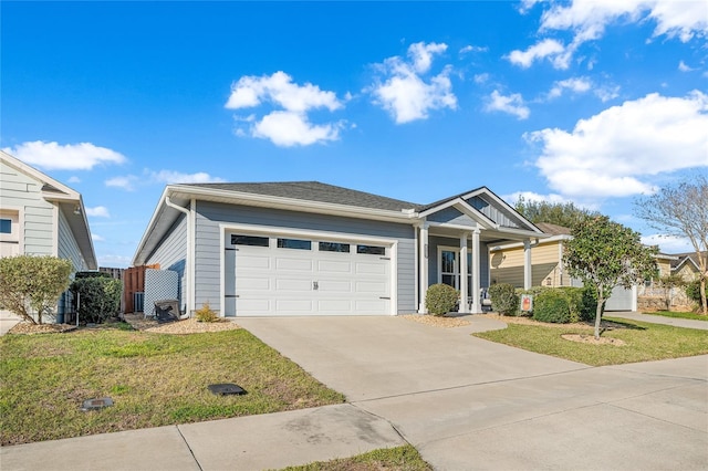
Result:
M308 201L295 198L283 198L239 191L226 191L219 189L212 190L188 186L173 188L177 192L188 193L196 199L208 200L210 197L218 199L230 199L233 200L233 203L241 203L244 206L263 206L273 209L287 209L289 211L299 210L303 212L316 212L319 214L348 216L361 219L374 219L392 222L412 222L413 220L417 219L417 214L409 211L391 211L387 209L361 208L332 202Z

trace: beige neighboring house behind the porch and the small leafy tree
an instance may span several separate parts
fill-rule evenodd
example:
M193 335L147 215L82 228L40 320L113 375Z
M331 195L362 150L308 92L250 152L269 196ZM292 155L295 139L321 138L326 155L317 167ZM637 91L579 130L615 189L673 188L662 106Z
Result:
M562 226L539 222L535 224L549 234L531 244L532 286L579 285L563 270L563 243L571 239L571 230ZM490 276L493 283L509 283L523 287L524 245L522 242L498 244L489 249Z

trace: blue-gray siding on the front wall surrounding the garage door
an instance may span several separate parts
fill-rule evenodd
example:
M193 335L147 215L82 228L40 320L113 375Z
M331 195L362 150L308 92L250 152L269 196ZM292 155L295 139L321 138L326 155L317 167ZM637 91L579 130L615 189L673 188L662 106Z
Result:
M335 216L283 211L266 208L221 205L197 201L196 223L196 303L217 306L220 301L220 247L219 223L243 223L330 231L398 240L398 312L416 311L415 302L415 232L413 226L368 221Z

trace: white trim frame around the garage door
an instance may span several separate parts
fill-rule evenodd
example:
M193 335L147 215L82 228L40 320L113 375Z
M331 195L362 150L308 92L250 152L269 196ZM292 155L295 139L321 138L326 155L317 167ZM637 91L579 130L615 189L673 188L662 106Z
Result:
M397 315L398 314L398 240L378 236L366 236L358 233L347 233L347 232L330 232L330 231L320 231L320 230L304 230L304 229L293 229L285 227L277 227L277 226L260 226L260 224L243 224L243 223L231 223L231 222L221 222L219 223L219 240L221 242L221 247L219 248L219 266L221 270L220 278L220 286L219 286L219 296L221 299L221 316L226 314L226 285L225 285L225 247L226 247L226 233L227 232L241 232L247 234L258 234L258 236L291 236L299 238L309 238L314 240L333 240L333 241L342 241L342 242L361 242L361 243L375 243L381 245L386 245L389 248L389 258L391 258L391 273L389 273L389 282L391 282L391 303L389 303L389 314Z

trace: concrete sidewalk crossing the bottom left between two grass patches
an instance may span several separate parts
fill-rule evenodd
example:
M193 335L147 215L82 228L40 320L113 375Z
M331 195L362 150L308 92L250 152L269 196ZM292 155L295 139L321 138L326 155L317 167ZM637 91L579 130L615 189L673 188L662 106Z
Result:
M264 470L405 441L351 404L0 448L3 471Z

